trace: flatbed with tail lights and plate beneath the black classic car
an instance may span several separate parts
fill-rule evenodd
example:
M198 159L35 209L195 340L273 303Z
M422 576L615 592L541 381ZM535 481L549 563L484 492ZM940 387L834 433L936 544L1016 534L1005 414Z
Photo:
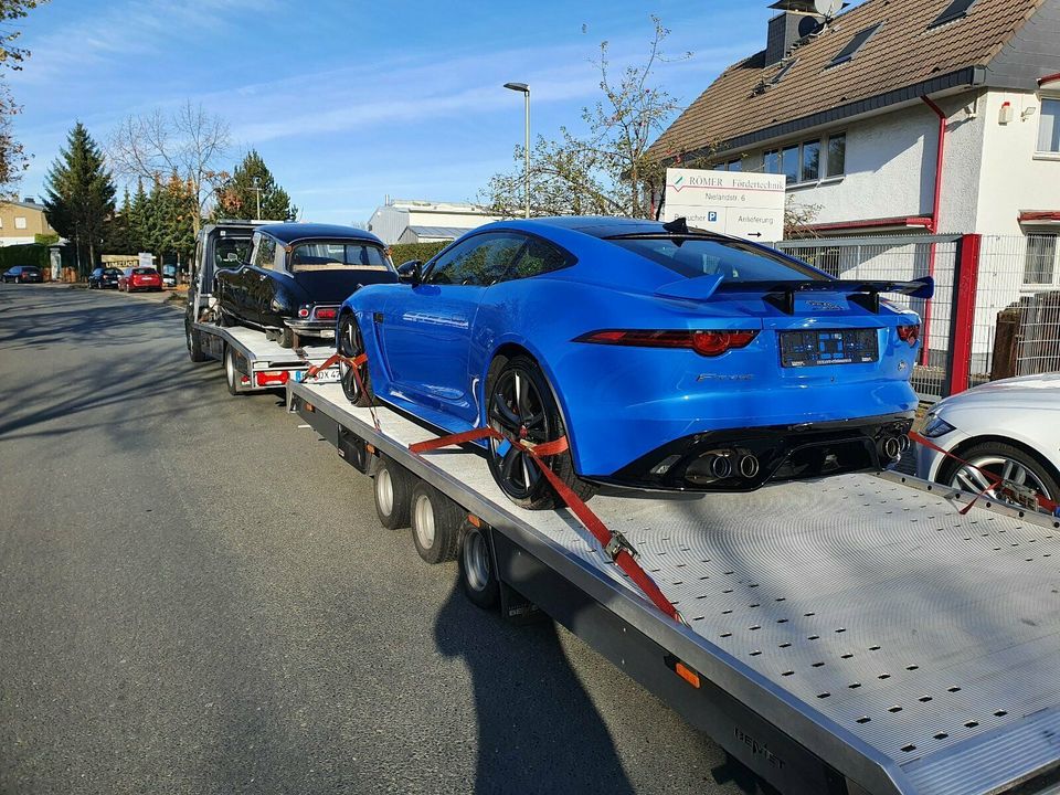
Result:
M330 340L284 348L268 339L265 332L245 326L197 322L192 330L198 336L202 353L224 364L232 394L282 389L288 381L300 380L310 367L322 364L335 353L335 343ZM336 382L339 370L337 367L321 370L314 380L317 383Z

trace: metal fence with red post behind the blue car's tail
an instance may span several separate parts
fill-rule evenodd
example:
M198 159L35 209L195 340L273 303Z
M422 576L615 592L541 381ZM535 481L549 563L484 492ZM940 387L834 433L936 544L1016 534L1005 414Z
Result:
M901 235L777 247L842 278L934 277L934 298L894 300L923 318L912 383L926 400L992 379L1060 370L1054 235Z

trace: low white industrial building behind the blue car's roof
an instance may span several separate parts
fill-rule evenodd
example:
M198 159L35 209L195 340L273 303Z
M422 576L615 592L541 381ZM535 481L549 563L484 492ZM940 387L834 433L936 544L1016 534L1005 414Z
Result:
M386 245L395 243L435 243L459 237L484 223L500 220L475 204L431 202L389 197L372 213L368 231Z

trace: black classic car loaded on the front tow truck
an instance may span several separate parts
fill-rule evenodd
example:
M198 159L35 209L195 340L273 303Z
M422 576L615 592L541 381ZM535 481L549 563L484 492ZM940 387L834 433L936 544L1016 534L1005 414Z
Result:
M221 325L259 328L292 348L301 337L331 339L339 305L358 288L396 280L385 246L370 232L268 224L254 231L250 262L216 271L213 295Z

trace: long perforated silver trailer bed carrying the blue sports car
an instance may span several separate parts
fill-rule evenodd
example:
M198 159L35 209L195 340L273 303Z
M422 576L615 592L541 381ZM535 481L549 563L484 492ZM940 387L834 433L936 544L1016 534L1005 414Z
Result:
M413 455L433 434L404 415L377 430L339 385L287 390L359 468L385 456L485 523L504 612L559 621L781 792L1060 792L1060 522L961 516L968 495L893 474L595 497L682 625L474 449Z

